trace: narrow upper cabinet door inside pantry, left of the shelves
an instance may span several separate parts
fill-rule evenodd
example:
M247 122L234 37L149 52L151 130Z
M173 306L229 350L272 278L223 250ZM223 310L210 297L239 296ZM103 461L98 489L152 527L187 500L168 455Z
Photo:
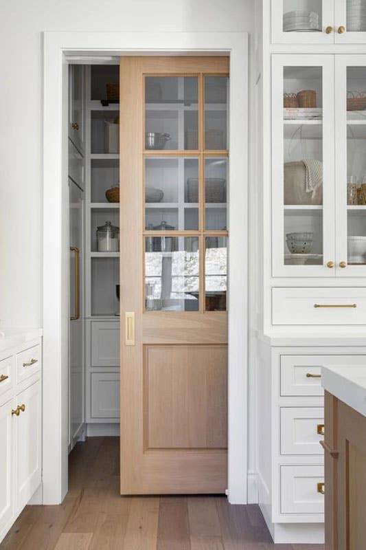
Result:
M69 66L69 138L84 154L84 67Z

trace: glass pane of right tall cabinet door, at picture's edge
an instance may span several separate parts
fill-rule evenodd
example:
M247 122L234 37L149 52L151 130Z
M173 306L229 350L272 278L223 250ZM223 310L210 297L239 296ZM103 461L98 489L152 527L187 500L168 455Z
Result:
M366 264L366 67L347 67L347 262Z

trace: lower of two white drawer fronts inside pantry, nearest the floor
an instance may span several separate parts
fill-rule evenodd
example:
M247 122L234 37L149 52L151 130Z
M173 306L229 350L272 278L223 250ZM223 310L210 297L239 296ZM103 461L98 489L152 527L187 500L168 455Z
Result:
M119 418L119 374L91 374L91 417Z

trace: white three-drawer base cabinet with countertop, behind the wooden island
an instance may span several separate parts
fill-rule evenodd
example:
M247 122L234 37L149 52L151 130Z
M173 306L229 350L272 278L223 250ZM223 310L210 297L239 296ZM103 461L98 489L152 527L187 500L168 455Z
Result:
M324 540L321 367L364 365L365 343L354 338L347 346L301 346L299 338L291 345L290 337L286 347L276 338L260 342L258 489L275 542Z

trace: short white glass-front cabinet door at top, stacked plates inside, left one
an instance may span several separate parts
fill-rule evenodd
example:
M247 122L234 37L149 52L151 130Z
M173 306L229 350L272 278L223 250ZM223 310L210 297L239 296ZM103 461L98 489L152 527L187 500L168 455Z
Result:
M272 42L334 42L334 0L272 0Z

